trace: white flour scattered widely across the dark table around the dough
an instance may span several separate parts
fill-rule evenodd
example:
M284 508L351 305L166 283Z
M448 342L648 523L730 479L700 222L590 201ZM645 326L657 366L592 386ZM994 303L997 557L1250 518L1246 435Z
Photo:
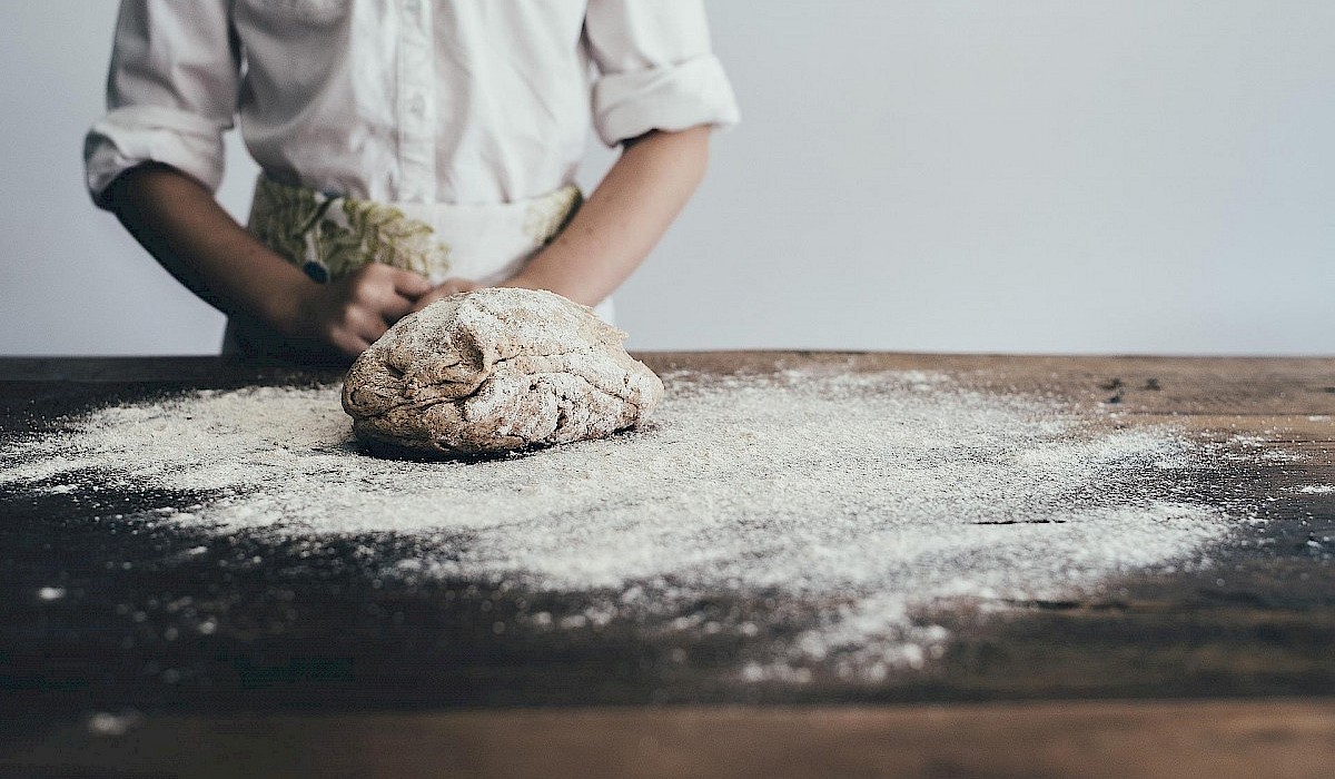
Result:
M756 680L802 680L822 660L873 679L916 667L948 637L924 607L1072 597L1189 565L1228 530L1176 490L1199 453L1171 430L1109 430L917 371L663 378L645 429L481 462L362 454L336 386L198 392L0 449L0 484L68 492L91 470L216 496L158 521L421 538L378 575L602 593L585 615L534 616L551 629L717 592L814 604L814 627L740 669ZM726 628L757 632L748 615Z

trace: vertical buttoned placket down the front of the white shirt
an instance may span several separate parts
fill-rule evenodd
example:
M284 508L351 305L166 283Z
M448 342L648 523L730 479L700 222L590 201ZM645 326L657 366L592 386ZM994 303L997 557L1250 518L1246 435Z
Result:
M399 0L399 199L435 199L435 63L431 0Z

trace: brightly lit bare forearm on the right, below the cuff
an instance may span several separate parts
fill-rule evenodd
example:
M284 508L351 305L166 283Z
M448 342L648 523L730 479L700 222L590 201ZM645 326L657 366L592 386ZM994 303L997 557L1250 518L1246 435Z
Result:
M650 132L627 143L570 224L505 286L551 290L589 306L611 294L700 186L709 132Z

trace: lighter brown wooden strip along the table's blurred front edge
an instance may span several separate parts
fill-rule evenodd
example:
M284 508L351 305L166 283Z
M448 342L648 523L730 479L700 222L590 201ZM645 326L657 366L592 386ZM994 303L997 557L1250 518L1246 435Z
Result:
M1335 703L164 716L63 728L5 776L1330 776ZM96 774L95 774L96 772Z

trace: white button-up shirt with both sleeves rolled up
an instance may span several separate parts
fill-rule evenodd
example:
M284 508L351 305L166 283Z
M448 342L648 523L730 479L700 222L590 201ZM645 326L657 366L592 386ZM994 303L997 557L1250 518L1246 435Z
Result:
M216 188L239 118L266 174L386 202L502 203L609 146L730 126L702 0L123 0L95 199L144 162Z

